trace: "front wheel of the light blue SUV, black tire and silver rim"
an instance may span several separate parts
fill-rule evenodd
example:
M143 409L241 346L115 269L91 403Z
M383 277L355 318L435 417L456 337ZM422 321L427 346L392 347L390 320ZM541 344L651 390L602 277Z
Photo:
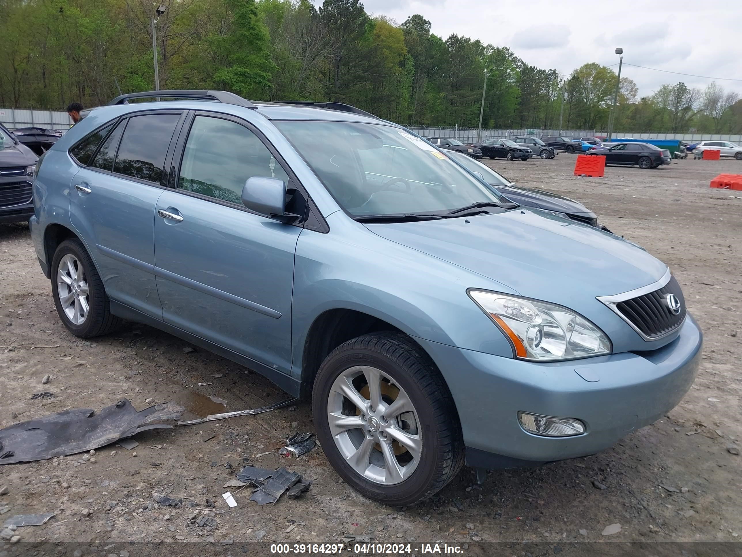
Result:
M463 466L453 398L430 357L402 333L370 333L335 348L315 378L312 411L332 467L375 501L422 501Z

